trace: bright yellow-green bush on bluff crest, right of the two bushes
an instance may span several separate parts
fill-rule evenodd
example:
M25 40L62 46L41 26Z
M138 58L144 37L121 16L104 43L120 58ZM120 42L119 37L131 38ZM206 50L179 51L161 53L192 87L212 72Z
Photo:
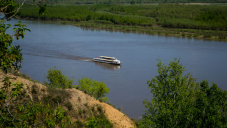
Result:
M108 101L106 94L109 93L109 88L105 86L105 83L103 81L96 81L89 78L83 77L79 81L79 85L77 85L77 88L100 101Z

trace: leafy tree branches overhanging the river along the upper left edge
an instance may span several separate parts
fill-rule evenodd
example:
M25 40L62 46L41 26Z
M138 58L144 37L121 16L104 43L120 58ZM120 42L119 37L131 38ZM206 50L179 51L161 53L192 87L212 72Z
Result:
M43 0L36 3L39 6L39 14L46 13L46 5L42 4ZM26 25L22 24L20 21L18 24L14 25L14 35L9 35L6 30L11 27L10 24L5 24L6 20L10 20L14 17L20 8L25 3L25 0L21 4L17 4L14 0L1 0L0 1L0 13L4 13L4 16L0 20L0 67L3 68L5 73L8 69L14 67L15 70L21 68L20 62L23 60L22 54L20 53L20 46L13 46L12 41L15 37L17 40L24 38L25 31L30 31L25 28Z

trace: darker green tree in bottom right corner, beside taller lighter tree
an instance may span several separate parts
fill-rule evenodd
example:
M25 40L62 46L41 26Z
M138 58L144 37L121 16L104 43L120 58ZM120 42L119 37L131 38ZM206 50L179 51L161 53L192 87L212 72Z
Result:
M206 80L200 82L193 111L192 127L227 127L227 91Z

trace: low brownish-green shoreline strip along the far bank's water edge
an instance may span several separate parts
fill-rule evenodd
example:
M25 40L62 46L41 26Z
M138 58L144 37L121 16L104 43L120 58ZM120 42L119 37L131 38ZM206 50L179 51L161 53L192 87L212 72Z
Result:
M134 26L134 25L119 25L111 22L105 21L66 21L61 19L36 19L31 17L17 19L21 20L40 20L40 21L53 21L58 22L63 25L73 25L86 29L97 29L106 31L118 31L126 33L136 33L136 34L147 34L147 35L160 35L160 36L173 36L173 37L183 37L183 38L194 38L194 39L204 39L204 40L214 40L214 41L224 41L227 42L227 37L220 39L218 36L213 35L216 30L200 30L200 29L182 29L182 28L165 28L159 25L152 26ZM222 32L222 31L219 31ZM226 31L223 31L226 32Z

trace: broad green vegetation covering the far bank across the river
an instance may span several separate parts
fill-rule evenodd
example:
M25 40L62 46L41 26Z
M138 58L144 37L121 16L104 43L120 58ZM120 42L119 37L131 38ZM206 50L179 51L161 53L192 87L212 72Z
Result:
M55 20L86 29L227 40L227 7L182 4L48 5L48 14L25 5L18 17Z

